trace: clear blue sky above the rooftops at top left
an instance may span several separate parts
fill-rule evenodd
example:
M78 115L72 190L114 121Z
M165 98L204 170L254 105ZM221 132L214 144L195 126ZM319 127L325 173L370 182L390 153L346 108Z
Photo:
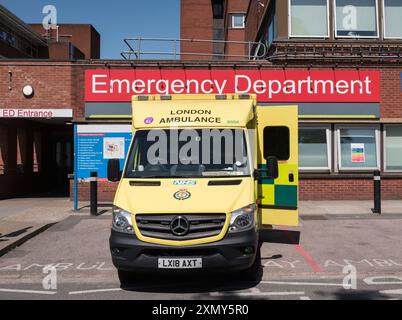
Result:
M101 35L101 58L120 59L127 37L180 37L180 0L0 0L27 23L42 23L45 5L57 9L57 23L92 24ZM156 47L158 46L158 47ZM172 51L149 43L144 49Z

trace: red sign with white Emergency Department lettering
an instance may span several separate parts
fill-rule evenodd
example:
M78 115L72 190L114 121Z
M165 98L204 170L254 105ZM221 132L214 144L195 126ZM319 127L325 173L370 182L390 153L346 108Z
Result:
M86 70L87 102L143 94L257 94L260 102L380 102L372 70Z

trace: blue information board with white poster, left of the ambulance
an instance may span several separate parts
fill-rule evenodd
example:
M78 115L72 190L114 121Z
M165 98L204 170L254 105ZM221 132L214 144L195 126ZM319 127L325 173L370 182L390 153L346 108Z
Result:
M120 159L120 166L123 168L132 133L131 131L117 132L121 127L123 126L94 125L92 128L90 125L79 126L75 146L78 180L89 178L93 171L98 173L98 178L107 178L109 159ZM130 128L130 126L124 127Z

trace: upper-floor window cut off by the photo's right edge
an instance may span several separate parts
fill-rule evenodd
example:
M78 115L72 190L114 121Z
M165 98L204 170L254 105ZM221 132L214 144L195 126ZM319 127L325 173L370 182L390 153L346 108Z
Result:
M402 1L384 0L384 38L402 38Z

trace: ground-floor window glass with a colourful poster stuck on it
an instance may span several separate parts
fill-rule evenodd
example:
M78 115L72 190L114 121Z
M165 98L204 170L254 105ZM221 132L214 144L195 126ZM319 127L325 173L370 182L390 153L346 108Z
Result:
M379 165L376 127L340 127L338 134L339 170L375 170Z

